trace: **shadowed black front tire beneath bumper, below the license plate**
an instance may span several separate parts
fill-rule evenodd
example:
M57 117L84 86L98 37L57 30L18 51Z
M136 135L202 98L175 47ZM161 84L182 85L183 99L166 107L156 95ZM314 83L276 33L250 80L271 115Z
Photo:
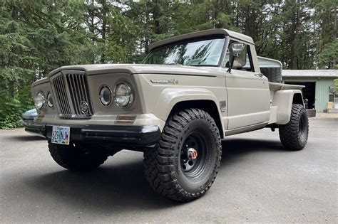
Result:
M48 141L48 149L58 165L71 171L96 169L108 158L104 151L87 150L86 146L52 144Z

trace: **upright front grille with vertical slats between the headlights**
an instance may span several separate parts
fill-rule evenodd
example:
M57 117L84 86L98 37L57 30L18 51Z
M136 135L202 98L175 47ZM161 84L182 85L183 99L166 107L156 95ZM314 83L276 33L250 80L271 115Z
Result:
M60 117L91 117L91 102L88 94L86 74L82 71L61 71L51 78L54 96ZM89 105L88 112L81 111L81 102Z

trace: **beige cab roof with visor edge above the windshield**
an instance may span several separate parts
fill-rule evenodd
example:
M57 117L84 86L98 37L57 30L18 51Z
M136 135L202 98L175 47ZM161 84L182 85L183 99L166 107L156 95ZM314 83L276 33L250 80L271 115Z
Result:
M197 32L193 32L193 33L187 33L187 34L183 34L180 36L175 36L173 38L168 38L165 39L163 41L158 41L156 43L153 43L149 46L149 50L153 50L154 48L158 48L160 46L165 46L168 45L170 43L175 43L178 41L183 41L186 39L193 39L193 38L202 38L204 36L230 36L231 38L235 38L237 40L240 41L244 41L247 43L252 43L254 44L252 38L250 36L246 36L242 33L237 33L234 31L228 31L225 28L212 28L210 30L206 30L206 31L197 31Z

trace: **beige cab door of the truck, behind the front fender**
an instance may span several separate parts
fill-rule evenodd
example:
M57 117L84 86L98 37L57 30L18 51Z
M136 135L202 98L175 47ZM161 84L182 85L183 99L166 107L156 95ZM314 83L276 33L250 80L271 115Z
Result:
M253 67L251 52L254 50L253 45L247 45L247 60L243 68L232 68L230 73L225 68L227 130L255 126L270 119L269 83L259 68Z

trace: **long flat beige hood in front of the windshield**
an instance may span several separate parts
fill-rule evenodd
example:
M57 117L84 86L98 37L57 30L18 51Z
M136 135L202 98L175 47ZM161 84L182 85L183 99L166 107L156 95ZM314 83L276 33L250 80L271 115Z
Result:
M96 65L71 65L63 66L49 73L53 76L61 70L84 70L87 75L107 73L128 73L128 74L166 74L166 75L198 75L217 76L221 73L219 67L193 67L185 65L148 65L148 64L96 64Z

